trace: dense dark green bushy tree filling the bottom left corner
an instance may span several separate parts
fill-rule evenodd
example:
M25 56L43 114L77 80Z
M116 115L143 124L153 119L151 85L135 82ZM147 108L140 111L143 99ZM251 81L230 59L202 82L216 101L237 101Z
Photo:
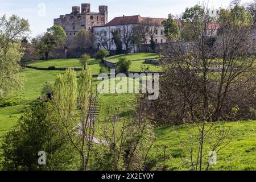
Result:
M74 155L67 139L55 130L54 108L42 102L19 119L15 130L3 138L3 170L65 170L73 165ZM54 122L53 122L54 121ZM46 152L46 165L38 164L38 152Z

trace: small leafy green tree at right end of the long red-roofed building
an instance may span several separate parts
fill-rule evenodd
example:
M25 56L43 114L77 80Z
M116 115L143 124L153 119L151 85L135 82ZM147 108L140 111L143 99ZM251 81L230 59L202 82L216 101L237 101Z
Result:
M179 35L179 27L174 20L174 15L169 14L168 19L162 22L164 26L164 34L168 38L174 38L176 35Z

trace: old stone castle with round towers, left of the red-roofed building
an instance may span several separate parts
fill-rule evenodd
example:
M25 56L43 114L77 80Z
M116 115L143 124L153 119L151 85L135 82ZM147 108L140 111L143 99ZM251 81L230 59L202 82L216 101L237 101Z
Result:
M104 26L108 23L108 6L99 6L99 12L90 11L90 4L73 6L71 14L60 15L54 19L54 24L64 28L67 34L66 48L76 48L74 38L76 33L85 29L92 31L94 26Z

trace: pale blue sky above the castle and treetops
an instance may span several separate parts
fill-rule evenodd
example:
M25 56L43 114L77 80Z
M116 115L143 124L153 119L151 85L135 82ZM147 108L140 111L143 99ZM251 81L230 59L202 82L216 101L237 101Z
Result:
M30 22L31 36L42 34L53 25L59 15L71 13L72 6L90 3L91 11L98 12L99 5L109 6L109 21L116 16L141 15L144 17L167 18L168 14L181 14L186 7L199 3L198 0L0 0L0 16L19 15ZM214 8L228 7L229 0L207 0ZM242 3L249 0L242 0Z

